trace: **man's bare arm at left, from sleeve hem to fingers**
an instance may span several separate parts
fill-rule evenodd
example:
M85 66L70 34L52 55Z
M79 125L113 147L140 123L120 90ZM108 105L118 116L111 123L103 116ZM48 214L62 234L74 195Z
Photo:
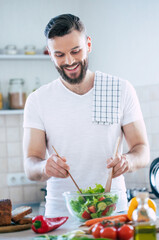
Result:
M45 160L45 132L34 128L25 128L23 137L24 169L27 177L34 181L46 181L51 176L67 177L69 166L65 158L52 154Z

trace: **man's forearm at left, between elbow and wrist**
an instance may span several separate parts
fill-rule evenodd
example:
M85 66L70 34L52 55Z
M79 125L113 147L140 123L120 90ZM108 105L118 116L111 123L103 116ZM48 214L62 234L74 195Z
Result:
M49 177L44 173L46 160L37 157L28 157L24 160L24 169L27 177L32 181L47 181Z

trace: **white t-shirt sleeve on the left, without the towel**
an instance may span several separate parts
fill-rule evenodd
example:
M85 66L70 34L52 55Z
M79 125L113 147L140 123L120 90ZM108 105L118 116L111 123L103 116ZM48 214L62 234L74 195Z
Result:
M24 108L23 127L37 128L45 131L41 115L42 114L40 112L40 107L38 104L38 99L35 91L31 93L26 100L26 104Z

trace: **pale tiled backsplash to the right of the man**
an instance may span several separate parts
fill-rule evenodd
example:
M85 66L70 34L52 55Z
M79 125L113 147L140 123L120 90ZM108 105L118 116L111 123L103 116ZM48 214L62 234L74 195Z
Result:
M143 169L125 174L127 188L150 189L149 169L151 162L159 157L159 84L136 87L145 120L151 150L151 161Z

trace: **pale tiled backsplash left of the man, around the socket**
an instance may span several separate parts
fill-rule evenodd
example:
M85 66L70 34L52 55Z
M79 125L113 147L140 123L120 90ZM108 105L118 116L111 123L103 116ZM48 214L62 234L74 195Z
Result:
M7 173L24 172L22 136L23 115L0 115L0 199L10 198L13 204L40 202L45 183L7 185Z

